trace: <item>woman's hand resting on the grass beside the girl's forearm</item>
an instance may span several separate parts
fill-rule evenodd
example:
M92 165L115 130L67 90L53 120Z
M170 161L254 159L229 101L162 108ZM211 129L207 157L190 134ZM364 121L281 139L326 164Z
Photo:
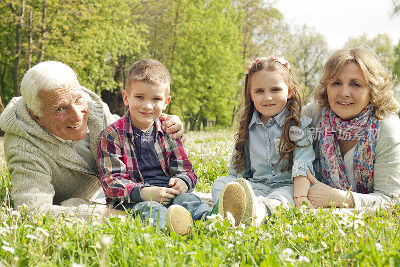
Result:
M329 185L318 181L310 171L307 171L307 178L312 183L308 190L308 199L315 207L330 207L334 198L334 206L340 207L343 202L347 203L348 207L354 207L354 199L351 193L347 194L346 191L334 189Z

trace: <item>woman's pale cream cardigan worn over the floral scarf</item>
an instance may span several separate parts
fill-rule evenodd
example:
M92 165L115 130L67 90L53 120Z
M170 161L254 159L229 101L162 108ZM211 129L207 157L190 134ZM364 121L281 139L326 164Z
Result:
M322 110L315 102L301 109L301 115L311 117L309 127L318 128ZM376 140L375 158L373 160L373 192L360 194L351 192L354 208L381 205L393 205L400 195L400 119L397 115L382 120L379 124L379 138ZM314 171L319 171L319 142L314 139ZM316 177L318 178L318 177Z

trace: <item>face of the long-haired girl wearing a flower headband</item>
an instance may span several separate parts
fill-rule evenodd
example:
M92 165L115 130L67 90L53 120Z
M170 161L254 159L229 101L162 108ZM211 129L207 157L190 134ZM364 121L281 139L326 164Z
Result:
M283 76L278 71L259 71L250 77L250 98L261 113L261 121L275 117L291 97Z

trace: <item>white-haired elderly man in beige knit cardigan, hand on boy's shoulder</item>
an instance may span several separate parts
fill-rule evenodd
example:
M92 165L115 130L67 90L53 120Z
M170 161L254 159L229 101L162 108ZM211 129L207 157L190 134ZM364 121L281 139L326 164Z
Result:
M101 191L97 148L100 131L118 117L60 62L32 67L20 92L0 115L14 206L51 217L107 216L108 208L93 201ZM162 127L179 130L175 139L183 134L176 116Z

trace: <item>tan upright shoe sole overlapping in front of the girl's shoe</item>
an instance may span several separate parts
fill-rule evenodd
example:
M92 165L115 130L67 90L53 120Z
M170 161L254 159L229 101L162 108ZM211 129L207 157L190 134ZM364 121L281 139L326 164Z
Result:
M219 214L226 218L226 212L230 212L235 221L234 226L239 225L246 208L246 195L243 187L236 182L228 182L222 188L218 202Z

